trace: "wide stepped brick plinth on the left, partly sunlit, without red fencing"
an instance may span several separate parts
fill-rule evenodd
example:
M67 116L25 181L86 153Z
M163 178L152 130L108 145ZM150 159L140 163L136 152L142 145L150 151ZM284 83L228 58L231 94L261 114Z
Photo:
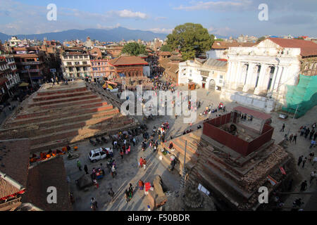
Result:
M0 139L28 138L31 153L37 153L133 125L134 120L87 89L85 82L44 84L2 124Z

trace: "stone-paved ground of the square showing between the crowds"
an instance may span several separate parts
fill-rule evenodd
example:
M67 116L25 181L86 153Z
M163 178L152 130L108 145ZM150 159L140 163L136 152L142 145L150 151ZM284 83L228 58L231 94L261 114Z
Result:
M187 90L187 87L180 86L178 87L178 89ZM189 124L185 124L183 122L183 117L178 117L178 119L175 120L174 116L160 116L154 121L150 120L149 122L147 122L147 126L149 127L149 134L154 125L156 125L156 127L159 127L161 122L166 121L170 123L170 131L168 131L166 140L169 139L170 134L173 134L173 136L180 136L185 129L196 130L197 124L201 124L206 119L205 117L199 117L199 113L201 113L209 104L213 104L213 107L216 108L216 106L218 106L218 103L220 103L220 93L210 92L207 95L206 90L198 89L197 100L201 101L202 105L201 108L199 108L199 110L197 111L197 121L192 125L192 127L189 127ZM235 108L237 105L239 105L233 102L222 102L226 106L228 112L230 112L232 108ZM211 114L211 117L216 117L216 114L217 113ZM292 117L288 118L287 120L281 120L279 118L279 113L271 113L271 115L273 120L271 125L275 128L273 139L275 139L275 143L280 143L284 139L285 133L289 135L294 134L294 132L298 131L299 127L301 127L302 125L311 126L311 124L316 121L317 106L309 110L309 112L306 113L304 117L295 119L294 121L292 120ZM140 117L137 117L137 119L142 122ZM285 132L280 132L283 123L285 123L286 125ZM100 164L100 162L91 163L88 160L89 150L94 148L89 144L89 141L83 142L78 146L80 149L79 152L81 154L80 161L82 162L82 167L87 164L88 169L91 170L92 167L97 167L97 165ZM108 144L108 146L111 146L111 144ZM313 148L312 150L316 152L316 148ZM305 140L298 134L297 144L289 144L287 151L294 156L297 162L299 155L304 155L304 157L306 157L310 153L309 140ZM317 155L317 153L315 153L315 155ZM148 162L147 170L145 172L143 169L137 168L137 162L141 156L145 156ZM100 181L100 186L98 189L91 187L87 192L76 191L77 189L75 187L74 181L75 179L78 179L80 175L84 172L78 171L76 167L76 160L67 160L67 157L64 157L66 163L66 171L68 173L68 176L70 177L70 191L73 191L75 195L76 203L74 205L74 210L90 210L89 201L92 197L97 199L99 203L99 210L147 210L149 200L147 199L147 197L144 196L143 192L136 191L130 203L126 203L124 191L125 188L128 188L130 183L132 183L137 190L137 181L139 181L139 179L142 179L142 181L144 182L153 181L155 175L157 174L162 177L164 184L168 186L170 191L175 191L180 186L180 176L178 174L175 174L175 172L168 172L168 170L163 167L161 162L159 162L159 160L155 157L154 153L151 153L151 150L148 149L143 153L140 146L138 146L137 148L132 149L132 153L130 153L130 155L124 156L123 162L121 162L120 155L118 155L118 153L115 153L114 159L117 162L118 175L114 179L111 178L110 174L107 174L106 177L104 177L104 179ZM106 166L106 160L104 160L102 163L104 166ZM315 167L316 166L317 164L315 165ZM306 179L307 181L309 181L309 174L312 169L313 167L309 165L309 162L306 162L304 169L298 168L298 174L296 175L299 176L299 184L294 183L295 191L299 189L299 185L302 180L304 181ZM116 193L113 203L111 203L111 198L110 196L108 196L108 190L111 187ZM316 190L316 181L313 183L313 185L309 186L309 191L313 190ZM306 203L306 199L310 198L311 195L303 195L301 197L299 197L298 195L292 195L288 200L285 201L285 207L286 205L291 205L291 203L294 201L295 196L296 198L302 197L302 199L304 199L304 202Z

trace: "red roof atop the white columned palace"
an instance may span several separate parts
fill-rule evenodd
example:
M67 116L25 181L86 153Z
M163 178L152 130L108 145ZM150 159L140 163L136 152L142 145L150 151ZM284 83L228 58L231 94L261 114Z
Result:
M278 44L282 48L300 48L301 56L317 56L317 44L313 41L305 41L298 39L283 39L269 37L269 40Z

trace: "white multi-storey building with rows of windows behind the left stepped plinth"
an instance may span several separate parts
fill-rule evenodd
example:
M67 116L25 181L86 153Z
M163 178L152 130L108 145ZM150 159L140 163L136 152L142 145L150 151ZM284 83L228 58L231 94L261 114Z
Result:
M80 52L64 52L62 59L63 72L66 78L92 77L92 64L89 54Z

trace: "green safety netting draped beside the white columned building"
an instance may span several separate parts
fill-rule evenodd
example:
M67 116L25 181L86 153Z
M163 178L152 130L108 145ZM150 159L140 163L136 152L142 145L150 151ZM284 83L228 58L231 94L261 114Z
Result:
M317 76L299 75L297 86L287 85L286 107L283 111L295 113L295 118L302 117L317 105Z

